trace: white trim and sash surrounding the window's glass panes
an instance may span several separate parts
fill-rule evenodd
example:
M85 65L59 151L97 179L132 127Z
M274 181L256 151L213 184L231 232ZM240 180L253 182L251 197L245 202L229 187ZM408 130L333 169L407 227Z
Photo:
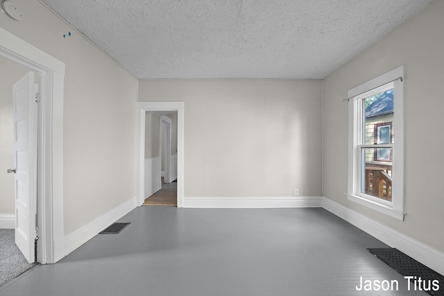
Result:
M402 79L398 79L402 78ZM398 220L404 220L404 66L398 67L373 80L365 82L348 91L348 200L368 207L379 213L386 214ZM359 157L358 149L359 121L356 117L359 95L382 85L393 82L394 92L394 121L396 125L395 145L393 147L393 187L392 202L366 198L359 194Z

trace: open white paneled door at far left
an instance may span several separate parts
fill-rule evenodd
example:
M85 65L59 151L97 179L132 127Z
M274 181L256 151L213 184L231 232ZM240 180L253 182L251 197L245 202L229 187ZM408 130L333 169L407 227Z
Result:
M37 208L37 103L34 73L13 86L15 155L15 243L29 263L35 261Z

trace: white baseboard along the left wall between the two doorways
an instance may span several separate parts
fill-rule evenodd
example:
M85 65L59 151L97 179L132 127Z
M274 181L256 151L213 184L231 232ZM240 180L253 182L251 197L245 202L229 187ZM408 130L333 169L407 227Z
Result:
M65 256L76 250L80 245L89 241L96 236L96 234L99 234L103 229L110 226L136 207L136 198L131 198L111 211L108 211L108 213L65 236Z

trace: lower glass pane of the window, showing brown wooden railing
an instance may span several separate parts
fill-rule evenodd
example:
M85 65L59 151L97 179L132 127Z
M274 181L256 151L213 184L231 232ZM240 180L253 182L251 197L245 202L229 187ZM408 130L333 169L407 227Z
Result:
M391 202L392 163L376 158L392 153L392 148L361 148L361 193Z

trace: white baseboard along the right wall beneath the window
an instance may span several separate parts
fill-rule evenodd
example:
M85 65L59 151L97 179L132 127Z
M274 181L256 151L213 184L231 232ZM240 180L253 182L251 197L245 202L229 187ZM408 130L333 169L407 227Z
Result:
M361 215L348 207L344 207L342 204L334 202L329 198L323 198L322 205L327 211L343 218L343 220L364 230L364 232L371 236L375 236L379 241L386 243L390 247L397 248L413 259L444 275L444 254L442 252L386 227L386 225Z

